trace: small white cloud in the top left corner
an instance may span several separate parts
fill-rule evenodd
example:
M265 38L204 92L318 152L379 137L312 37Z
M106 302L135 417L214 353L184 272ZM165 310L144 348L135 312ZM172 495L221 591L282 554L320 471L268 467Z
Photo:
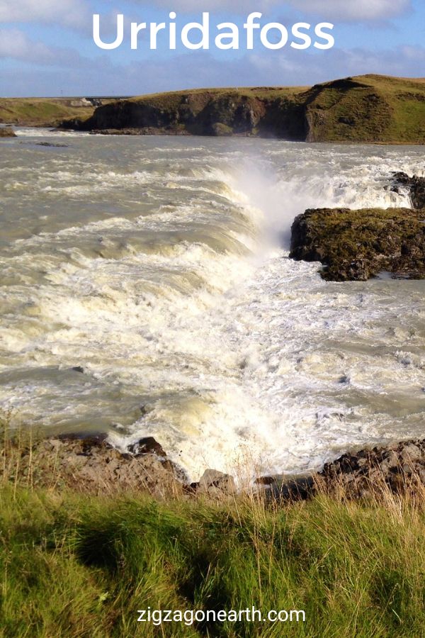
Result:
M0 23L59 23L83 26L89 16L84 0L0 0Z

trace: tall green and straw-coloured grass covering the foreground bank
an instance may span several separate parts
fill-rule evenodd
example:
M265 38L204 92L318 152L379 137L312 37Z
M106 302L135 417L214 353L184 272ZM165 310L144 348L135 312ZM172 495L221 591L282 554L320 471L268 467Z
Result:
M425 490L363 502L91 496L17 479L4 432L0 636L415 637ZM36 468L31 469L31 472ZM137 610L304 610L305 622L137 622Z

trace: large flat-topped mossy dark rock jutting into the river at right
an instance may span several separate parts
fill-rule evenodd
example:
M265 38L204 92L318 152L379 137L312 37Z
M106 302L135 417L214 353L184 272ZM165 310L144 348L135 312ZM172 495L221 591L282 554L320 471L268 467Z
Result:
M317 208L295 218L290 257L322 262L331 281L365 281L380 272L425 278L425 210Z

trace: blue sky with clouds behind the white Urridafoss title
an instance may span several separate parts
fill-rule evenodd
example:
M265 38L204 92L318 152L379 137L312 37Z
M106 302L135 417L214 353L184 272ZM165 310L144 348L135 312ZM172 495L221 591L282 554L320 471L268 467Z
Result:
M334 24L329 50L268 50L258 33L253 50L169 50L164 33L157 50L142 35L130 48L131 22L200 21L210 13L212 34L222 22L242 30L251 11L261 24ZM125 16L123 44L102 50L93 38L113 42L116 16ZM178 32L179 33L179 32ZM0 0L0 96L127 96L207 86L311 86L365 73L425 76L424 0ZM195 39L195 36L194 36ZM313 39L314 41L314 39Z

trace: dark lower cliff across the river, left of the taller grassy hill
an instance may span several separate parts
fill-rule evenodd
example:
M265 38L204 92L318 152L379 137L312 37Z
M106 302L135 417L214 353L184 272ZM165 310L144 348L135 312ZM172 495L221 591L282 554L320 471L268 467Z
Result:
M97 108L79 128L289 140L306 136L302 99L285 89L185 91L118 101Z

